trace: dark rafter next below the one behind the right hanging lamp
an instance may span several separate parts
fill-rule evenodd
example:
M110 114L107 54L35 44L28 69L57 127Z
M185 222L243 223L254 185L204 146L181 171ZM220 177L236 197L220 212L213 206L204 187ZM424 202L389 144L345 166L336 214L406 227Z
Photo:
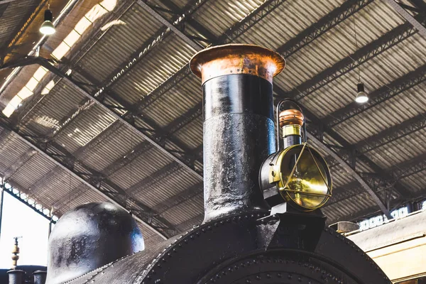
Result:
M365 154L425 128L426 112L381 131L374 136L368 137L364 141L356 143L355 147L359 153Z

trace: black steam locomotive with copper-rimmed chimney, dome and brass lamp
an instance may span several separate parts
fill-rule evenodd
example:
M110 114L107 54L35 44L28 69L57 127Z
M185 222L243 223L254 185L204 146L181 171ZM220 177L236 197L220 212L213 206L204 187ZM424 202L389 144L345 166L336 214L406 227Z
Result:
M197 53L190 68L203 89L204 222L144 249L124 209L81 205L50 235L46 283L391 283L325 226L327 163L307 143L295 102L280 102L274 115L273 77L284 67L256 45Z

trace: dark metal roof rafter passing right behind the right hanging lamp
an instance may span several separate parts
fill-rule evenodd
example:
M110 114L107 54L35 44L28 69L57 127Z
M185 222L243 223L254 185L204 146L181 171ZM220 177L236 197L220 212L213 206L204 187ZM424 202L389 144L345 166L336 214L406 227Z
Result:
M397 80L383 86L368 94L368 102L365 104L357 104L352 102L342 109L334 111L324 118L324 123L329 127L337 126L342 122L357 116L364 111L376 107L382 102L395 97L396 95L411 89L418 84L426 81L426 65L418 67L416 70L398 78Z

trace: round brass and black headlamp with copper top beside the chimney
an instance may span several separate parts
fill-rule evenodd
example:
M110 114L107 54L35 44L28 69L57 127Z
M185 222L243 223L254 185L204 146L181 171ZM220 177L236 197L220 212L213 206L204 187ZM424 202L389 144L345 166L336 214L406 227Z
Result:
M281 201L275 196L271 207L284 200L301 211L318 209L332 196L329 167L315 148L302 141L305 124L302 111L285 109L279 113L278 121L283 149L278 149L262 165L264 196L268 201L268 197L275 195L274 192L279 193ZM306 140L306 133L304 138Z

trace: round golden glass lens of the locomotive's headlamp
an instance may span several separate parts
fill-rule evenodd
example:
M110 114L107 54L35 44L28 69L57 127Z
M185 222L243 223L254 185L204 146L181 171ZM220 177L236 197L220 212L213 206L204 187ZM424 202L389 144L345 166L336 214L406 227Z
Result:
M327 202L331 195L329 170L320 154L312 149L307 149L308 146L300 155L302 147L300 145L289 149L283 157L281 173L283 183L287 183L287 187L283 190L300 207L316 209ZM295 165L299 156L300 159ZM292 174L293 168L295 170Z

